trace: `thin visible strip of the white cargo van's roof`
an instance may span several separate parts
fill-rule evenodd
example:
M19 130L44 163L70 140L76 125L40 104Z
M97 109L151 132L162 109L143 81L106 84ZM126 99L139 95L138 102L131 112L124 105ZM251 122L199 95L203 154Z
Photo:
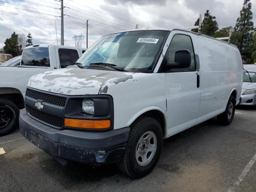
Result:
M179 28L174 28L174 29L170 29L170 28L134 29L134 30L119 31L119 32L115 32L115 33L112 33L112 34L121 33L121 32L130 32L130 31L150 31L150 30L163 30L163 31L179 30L179 31L189 32L189 33L192 33L192 34L197 35L197 36L199 36L199 35L200 35L200 36L203 36L203 37L206 37L206 38L210 38L210 39L212 39L212 40L216 40L216 41L218 41L218 42L223 42L223 43L226 43L226 44L228 44L228 45L232 45L232 46L237 47L236 45L234 45L234 44L232 44L232 43L229 43L229 42L226 42L226 41L223 41L223 40L220 40L220 39L217 39L217 38L211 37L211 36L207 36L207 35L199 34L199 33L197 33L197 32L188 31L188 30L184 30L184 29L179 29Z

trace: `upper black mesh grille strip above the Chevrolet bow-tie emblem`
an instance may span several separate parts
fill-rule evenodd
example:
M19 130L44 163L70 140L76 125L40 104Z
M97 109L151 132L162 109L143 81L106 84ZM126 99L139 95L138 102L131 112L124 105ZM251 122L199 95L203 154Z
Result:
M27 89L26 91L26 96L36 99L36 100L42 100L46 103L50 103L53 105L57 105L57 106L62 106L64 107L66 104L66 100L67 98L65 97L60 97L60 96L55 96L55 95L51 95L51 94L46 94L46 93L41 93L38 91L34 91L31 89Z

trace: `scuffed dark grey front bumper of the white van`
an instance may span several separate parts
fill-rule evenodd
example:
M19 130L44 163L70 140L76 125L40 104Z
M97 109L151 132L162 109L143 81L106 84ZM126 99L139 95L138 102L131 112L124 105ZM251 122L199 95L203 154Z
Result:
M130 128L106 132L57 130L20 111L20 132L53 157L86 164L109 164L121 159Z

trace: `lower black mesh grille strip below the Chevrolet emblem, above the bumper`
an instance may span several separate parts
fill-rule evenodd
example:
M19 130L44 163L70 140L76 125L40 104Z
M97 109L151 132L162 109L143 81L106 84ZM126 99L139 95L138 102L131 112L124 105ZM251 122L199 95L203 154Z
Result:
M29 113L31 116L34 118L37 118L43 122L46 122L50 125L56 126L56 127L61 127L62 126L62 117L58 117L55 115L51 115L39 110L36 110L30 106L26 105L26 111Z

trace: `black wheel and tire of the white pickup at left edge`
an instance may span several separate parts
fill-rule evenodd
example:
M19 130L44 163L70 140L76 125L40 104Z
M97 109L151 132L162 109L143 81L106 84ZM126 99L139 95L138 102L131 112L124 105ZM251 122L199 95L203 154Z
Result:
M0 98L0 136L16 128L19 120L19 108L8 99Z

